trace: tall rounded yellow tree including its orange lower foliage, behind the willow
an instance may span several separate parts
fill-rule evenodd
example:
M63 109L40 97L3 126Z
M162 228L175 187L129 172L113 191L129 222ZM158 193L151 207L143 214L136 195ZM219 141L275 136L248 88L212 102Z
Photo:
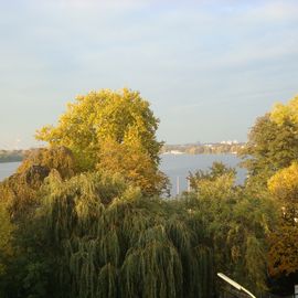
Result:
M78 96L75 103L68 104L57 126L43 127L36 138L51 146L70 148L81 171L103 168L124 173L130 168L129 181L150 190L149 193L152 190L160 192L166 180L158 170L162 146L156 138L158 123L149 103L138 92L102 89ZM117 157L121 153L131 156L125 156L116 166L118 158L108 149ZM146 173L140 169L132 173L132 168L140 161Z

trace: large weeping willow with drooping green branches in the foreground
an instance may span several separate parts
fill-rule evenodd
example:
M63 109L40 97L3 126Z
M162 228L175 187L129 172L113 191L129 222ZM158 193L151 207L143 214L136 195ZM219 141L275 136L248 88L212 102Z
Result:
M55 297L211 297L211 251L179 203L100 172L50 175L43 192Z

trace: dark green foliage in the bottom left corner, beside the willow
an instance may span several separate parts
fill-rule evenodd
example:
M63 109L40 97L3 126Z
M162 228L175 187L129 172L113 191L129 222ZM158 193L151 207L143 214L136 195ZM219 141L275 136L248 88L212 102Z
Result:
M11 246L13 254L7 256L6 273L1 276L1 297L42 298L54 297L55 256L52 244L46 240L45 223L31 220L14 224Z

